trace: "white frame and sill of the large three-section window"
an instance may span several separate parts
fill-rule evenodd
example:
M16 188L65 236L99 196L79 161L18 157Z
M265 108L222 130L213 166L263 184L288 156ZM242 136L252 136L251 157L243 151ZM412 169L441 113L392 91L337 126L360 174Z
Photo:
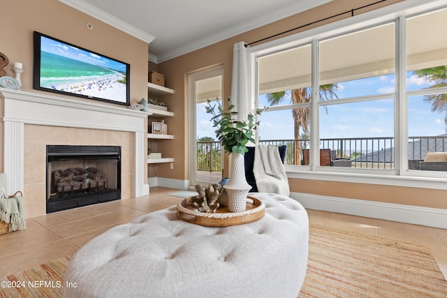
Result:
M395 148L395 168L393 170L378 169L357 169L341 167L319 167L319 158L315 158L319 150L319 109L323 105L321 100L312 100L310 103L310 160L309 167L298 165L286 165L286 173L289 178L296 179L316 179L323 181L340 181L365 184L381 184L391 186L408 186L421 188L434 188L447 190L447 172L411 171L408 170L408 149L402 144L408 142L407 124L409 96L422 93L422 91L406 91L406 52L405 52L405 29L406 19L417 15L428 13L433 10L441 10L447 7L447 0L425 1L420 3L416 0L406 0L385 8L379 8L372 12L357 15L349 19L334 22L315 29L309 29L293 36L287 36L269 43L263 43L251 48L251 73L252 93L251 107L258 106L258 57L282 52L293 47L305 44L312 44L312 96L318 98L319 82L319 61L318 43L327 38L342 36L346 33L362 31L372 27L390 22L395 22L395 92L392 94L379 94L365 96L368 100L372 98L393 98L395 107L395 128L394 128L394 148ZM447 92L447 87L430 89L430 93ZM424 90L423 94L427 94ZM324 101L324 105L349 103L362 98L343 98ZM290 108L290 106L288 106ZM281 106L281 110L285 107Z

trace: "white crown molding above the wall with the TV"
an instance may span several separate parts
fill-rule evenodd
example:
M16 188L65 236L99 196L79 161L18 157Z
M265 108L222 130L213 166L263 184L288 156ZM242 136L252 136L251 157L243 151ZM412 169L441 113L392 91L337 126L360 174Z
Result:
M68 6L71 6L72 8L75 8L76 10L79 10L82 13L90 15L91 17L94 17L102 22L105 22L105 24L109 24L112 27L115 27L125 33L128 33L129 35L138 38L144 41L145 43L152 43L152 40L155 39L155 37L150 35L149 33L146 33L145 31L142 31L138 28L135 28L130 24L123 22L122 20L119 20L117 17L114 17L109 13L105 13L105 11L97 8L96 6L92 6L90 3L87 3L83 0L58 0L58 1Z

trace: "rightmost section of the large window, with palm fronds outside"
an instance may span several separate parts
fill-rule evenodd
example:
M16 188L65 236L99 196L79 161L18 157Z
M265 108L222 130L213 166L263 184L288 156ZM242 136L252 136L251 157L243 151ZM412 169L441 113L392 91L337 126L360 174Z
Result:
M427 152L447 151L447 10L406 20L408 163L421 170ZM425 167L423 170L435 169ZM437 168L436 170L447 170Z

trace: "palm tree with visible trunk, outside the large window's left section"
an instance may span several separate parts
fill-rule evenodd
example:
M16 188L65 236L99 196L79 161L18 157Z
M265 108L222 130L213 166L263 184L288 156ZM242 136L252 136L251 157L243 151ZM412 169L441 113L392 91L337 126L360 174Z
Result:
M332 100L333 98L338 98L337 94L335 94L337 88L338 88L337 84L321 85L319 91L320 100ZM281 101L286 98L286 91L279 91L271 94L266 94L266 98L270 106L279 105L279 103L281 103ZM310 103L311 100L312 100L311 87L293 89L291 91L292 104ZM294 140L296 140L293 155L295 156L295 164L298 164L298 162L301 160L301 153L300 153L301 144L299 142L299 140L301 140L300 128L302 128L302 131L305 134L309 135L309 122L310 122L309 107L295 107L292 110L292 113L294 122L293 135Z

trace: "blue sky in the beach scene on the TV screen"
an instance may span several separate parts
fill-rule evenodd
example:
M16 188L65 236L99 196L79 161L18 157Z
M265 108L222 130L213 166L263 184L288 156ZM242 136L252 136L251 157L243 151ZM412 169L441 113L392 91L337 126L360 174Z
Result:
M94 54L92 52L81 50L78 47L73 47L72 45L68 45L66 43L60 43L57 40L52 40L50 38L46 38L45 36L41 37L41 51L86 62L88 64L111 68L122 71L123 73L126 72L126 64L99 56L98 54Z

